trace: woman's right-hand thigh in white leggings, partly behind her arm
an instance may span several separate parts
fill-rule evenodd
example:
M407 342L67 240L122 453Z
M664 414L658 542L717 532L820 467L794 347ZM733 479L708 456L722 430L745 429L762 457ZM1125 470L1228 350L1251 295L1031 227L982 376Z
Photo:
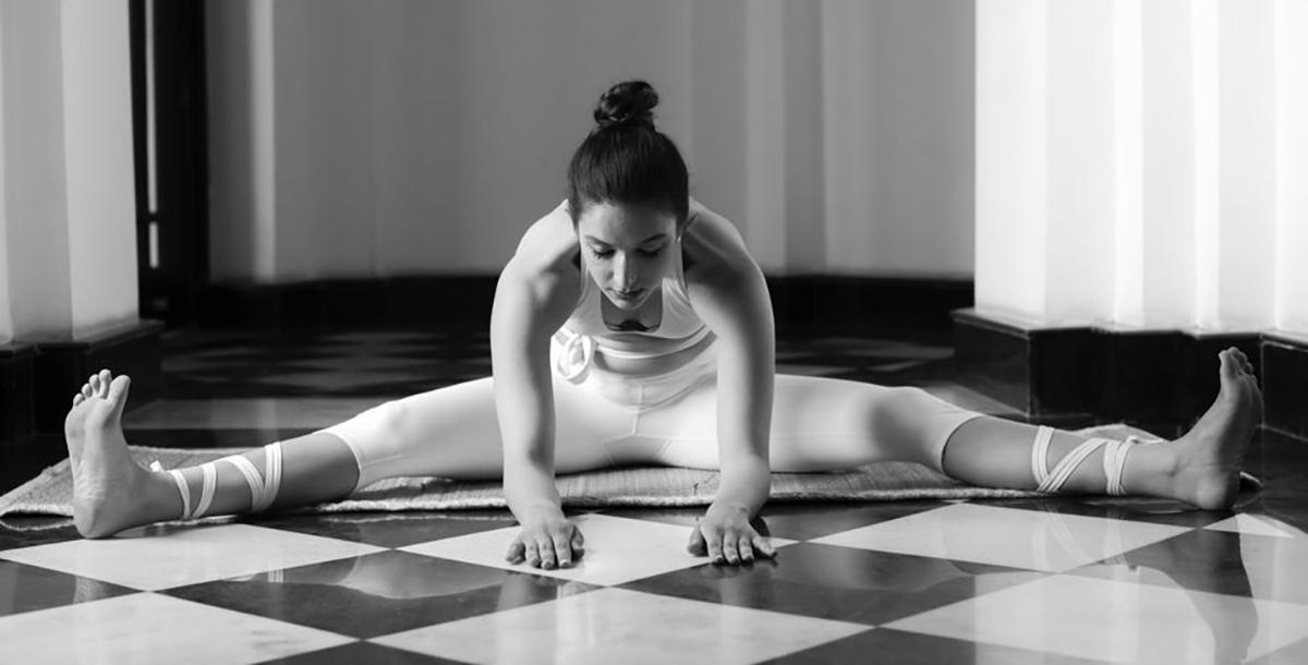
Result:
M645 420L650 435L666 437L655 462L718 467L715 394L717 382L706 384ZM892 459L939 469L948 435L977 415L916 387L778 374L769 458L774 471L794 473Z

